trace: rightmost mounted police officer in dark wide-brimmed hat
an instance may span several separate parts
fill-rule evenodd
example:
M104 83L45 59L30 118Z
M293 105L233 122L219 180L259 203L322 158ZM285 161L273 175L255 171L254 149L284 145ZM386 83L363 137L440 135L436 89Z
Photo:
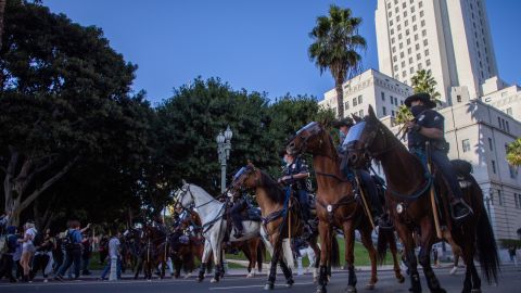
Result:
M469 216L472 211L463 202L456 173L447 157L448 143L444 138L445 118L433 110L436 104L429 93L412 94L405 100L405 104L415 116L414 120L406 123L409 151L422 160L425 156L425 142L430 142L431 160L441 169L453 193L450 201L453 217L459 220Z

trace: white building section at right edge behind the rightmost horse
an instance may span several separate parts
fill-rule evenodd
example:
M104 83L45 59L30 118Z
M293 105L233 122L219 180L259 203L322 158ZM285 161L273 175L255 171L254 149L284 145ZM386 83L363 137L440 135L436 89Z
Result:
M519 167L509 166L505 157L507 144L521 137L521 123L480 100L462 100L440 113L445 117L445 139L450 143L448 157L472 164L496 239L518 239L521 175ZM395 133L398 131L390 117L381 120Z

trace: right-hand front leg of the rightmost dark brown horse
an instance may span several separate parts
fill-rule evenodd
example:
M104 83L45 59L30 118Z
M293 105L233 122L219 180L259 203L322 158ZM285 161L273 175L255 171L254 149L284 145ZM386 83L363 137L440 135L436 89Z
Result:
M423 275L425 275L427 285L433 293L445 293L446 291L441 288L440 281L434 275L431 267L431 250L434 243L434 230L432 227L432 220L424 218L421 221L421 249L419 254L420 265L423 267Z

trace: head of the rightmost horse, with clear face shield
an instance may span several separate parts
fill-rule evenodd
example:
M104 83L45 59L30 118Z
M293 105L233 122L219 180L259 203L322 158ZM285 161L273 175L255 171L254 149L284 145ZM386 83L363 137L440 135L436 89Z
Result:
M354 168L364 167L371 158L378 158L392 148L391 138L394 136L377 118L372 106L369 105L369 115L351 127L344 140L347 150L344 157L346 164Z

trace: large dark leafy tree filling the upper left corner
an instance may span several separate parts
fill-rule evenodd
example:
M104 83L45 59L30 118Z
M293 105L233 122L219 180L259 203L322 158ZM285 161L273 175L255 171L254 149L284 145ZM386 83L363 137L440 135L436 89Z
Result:
M139 113L143 101L128 97L136 66L110 48L101 29L8 1L2 44L0 170L14 225L74 166L90 170L84 175L100 162L113 166L101 169L113 170L104 176L138 173L149 126Z

